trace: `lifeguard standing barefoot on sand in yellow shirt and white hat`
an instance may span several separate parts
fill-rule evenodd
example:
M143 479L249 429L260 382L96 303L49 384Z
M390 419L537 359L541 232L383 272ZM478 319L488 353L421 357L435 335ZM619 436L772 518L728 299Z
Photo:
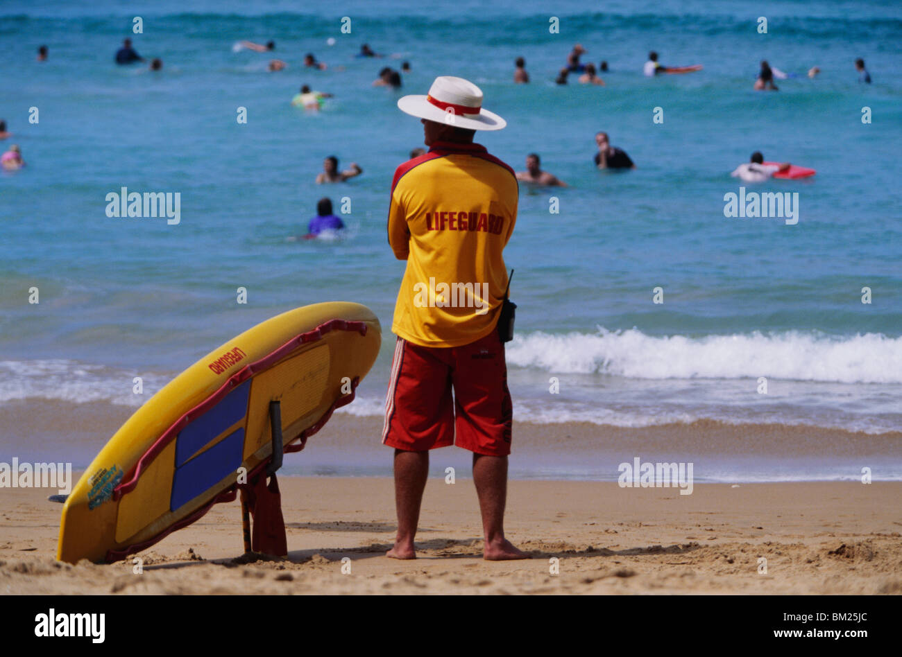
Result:
M513 169L473 142L475 131L507 124L482 104L479 87L453 77L436 78L428 96L398 101L423 123L429 151L401 164L391 182L389 244L407 260L382 430L394 448L393 559L416 558L428 451L452 444L474 452L483 558L529 558L504 537L512 406L497 331L518 186Z

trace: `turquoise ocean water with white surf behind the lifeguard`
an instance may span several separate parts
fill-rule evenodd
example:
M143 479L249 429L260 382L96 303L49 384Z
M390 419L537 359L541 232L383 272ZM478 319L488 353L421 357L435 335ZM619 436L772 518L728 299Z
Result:
M132 33L135 16L143 33ZM164 68L116 67L127 36ZM276 50L235 51L242 39ZM554 84L577 41L584 61L608 62L605 87ZM363 42L388 57L354 58ZM41 44L50 59L38 63ZM667 66L704 70L644 78L652 49ZM304 68L307 52L328 68ZM571 186L521 187L505 251L519 306L508 346L516 420L902 431L900 54L902 5L881 2L565 2L549 14L538 0L6 0L0 118L14 137L0 146L20 144L28 166L0 174L0 405L138 406L133 376L151 393L253 324L341 299L372 307L384 329L345 412L381 414L404 266L385 239L389 187L422 141L395 103L457 75L509 123L477 141L516 169L536 151ZM527 86L511 81L518 56ZM267 72L272 57L288 68ZM870 86L857 82L857 57ZM754 92L759 59L796 77ZM371 86L402 60L412 70L400 92ZM302 84L335 97L304 113L290 106ZM236 121L240 107L247 123ZM598 130L638 169L594 169ZM797 224L724 216L724 195L741 187L730 172L751 151L817 169L745 186L797 193ZM315 185L328 155L364 174ZM179 192L179 224L107 217L106 195L121 187ZM345 238L291 239L324 195L350 199ZM22 446L34 436L0 427L0 438ZM902 460L884 465L902 477ZM804 462L778 470L808 474Z

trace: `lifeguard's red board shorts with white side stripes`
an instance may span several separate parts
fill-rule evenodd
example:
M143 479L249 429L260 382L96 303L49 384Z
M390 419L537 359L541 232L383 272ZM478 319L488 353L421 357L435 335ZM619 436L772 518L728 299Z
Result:
M462 347L395 342L383 444L408 452L456 444L477 454L507 456L512 415L497 331Z

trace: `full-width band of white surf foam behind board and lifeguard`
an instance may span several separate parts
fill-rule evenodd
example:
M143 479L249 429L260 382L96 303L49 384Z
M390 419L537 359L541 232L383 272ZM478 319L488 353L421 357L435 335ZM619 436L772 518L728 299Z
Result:
M880 335L843 340L796 333L690 339L632 330L532 333L510 343L508 361L517 422L638 428L714 420L885 433L902 427L897 404L900 351L898 339ZM0 404L44 399L136 408L174 374L75 360L0 360ZM339 412L381 416L383 374L371 373L364 394ZM551 375L560 379L560 395L548 394ZM612 375L622 379L604 383ZM135 376L143 377L143 395L133 394ZM756 394L758 376L773 379L768 395ZM849 382L883 386L857 388Z

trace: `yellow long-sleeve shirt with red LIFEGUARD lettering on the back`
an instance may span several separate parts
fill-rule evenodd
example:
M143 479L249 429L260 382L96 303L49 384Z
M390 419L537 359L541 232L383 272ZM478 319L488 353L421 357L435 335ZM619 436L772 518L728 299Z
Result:
M494 330L518 197L513 169L479 144L437 142L395 170L389 244L407 269L394 333L425 347L458 347Z

